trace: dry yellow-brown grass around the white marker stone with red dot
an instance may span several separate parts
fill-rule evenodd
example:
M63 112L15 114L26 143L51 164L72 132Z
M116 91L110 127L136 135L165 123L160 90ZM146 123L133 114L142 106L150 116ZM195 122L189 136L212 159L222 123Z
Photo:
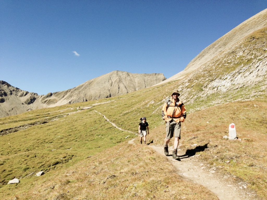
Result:
M223 139L224 135L228 136L230 123L235 123L239 140ZM158 130L163 133L164 126ZM267 195L266 136L266 101L233 102L189 114L182 124L179 148L190 152L194 149L192 144L207 144L207 148L198 153L202 162L222 166L221 173L247 182L258 198L264 199ZM162 136L153 135L153 139L155 144L162 144Z

